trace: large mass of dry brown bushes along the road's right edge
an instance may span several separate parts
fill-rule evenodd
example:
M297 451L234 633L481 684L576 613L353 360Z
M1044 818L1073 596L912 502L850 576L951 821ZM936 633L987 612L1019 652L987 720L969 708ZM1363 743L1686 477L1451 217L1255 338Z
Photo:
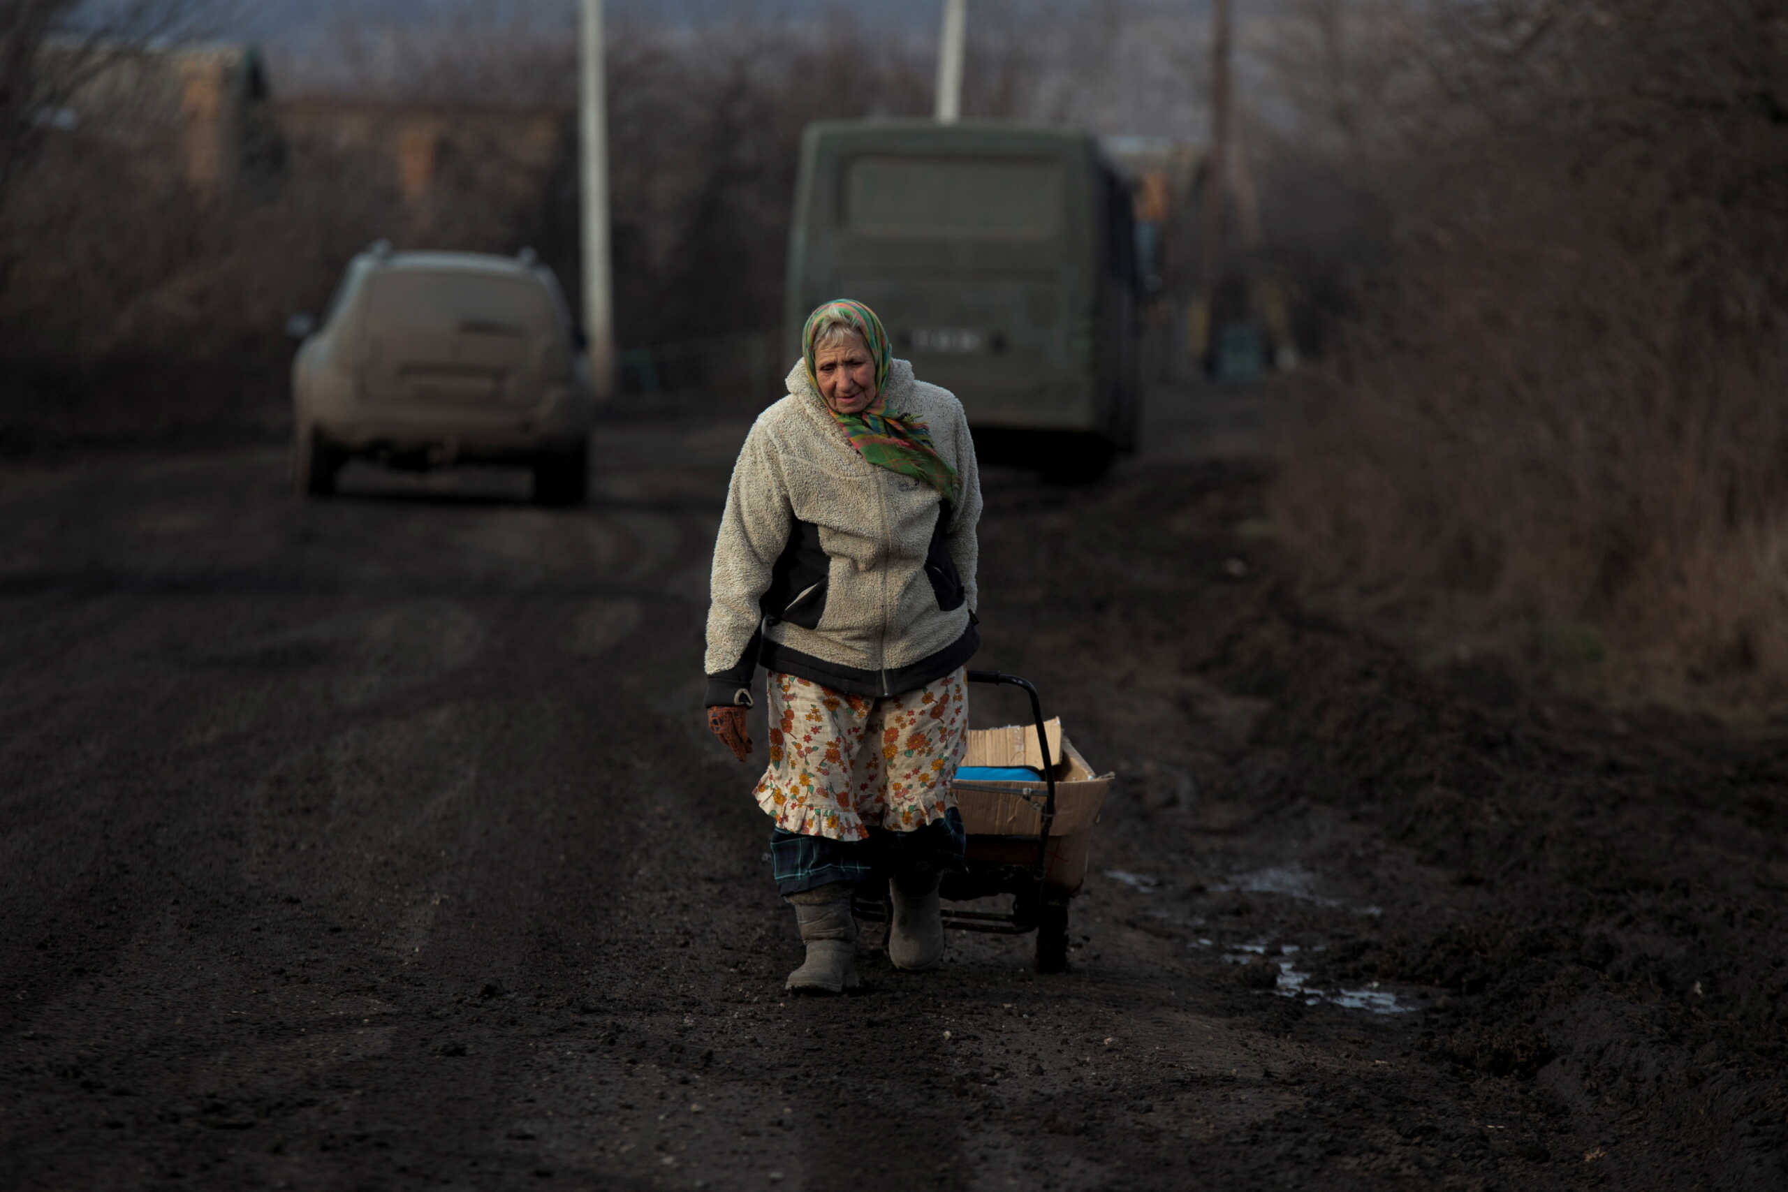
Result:
M1345 9L1303 5L1307 111L1389 241L1289 420L1312 595L1620 697L1783 695L1783 9Z

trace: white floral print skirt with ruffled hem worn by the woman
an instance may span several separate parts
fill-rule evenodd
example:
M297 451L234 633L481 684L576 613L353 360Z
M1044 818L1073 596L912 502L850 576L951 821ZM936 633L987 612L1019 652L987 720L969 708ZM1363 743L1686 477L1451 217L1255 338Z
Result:
M771 765L753 792L776 827L867 840L948 815L969 729L967 672L889 699L769 676Z

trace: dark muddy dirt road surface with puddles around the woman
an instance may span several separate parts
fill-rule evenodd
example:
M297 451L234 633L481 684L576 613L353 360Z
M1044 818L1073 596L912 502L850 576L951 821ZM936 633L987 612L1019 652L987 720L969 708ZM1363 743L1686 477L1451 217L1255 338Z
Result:
M0 1187L1788 1187L1788 733L1307 615L1250 400L987 475L978 663L1119 776L1071 972L831 1001L697 709L749 415L619 411L570 511L7 461Z

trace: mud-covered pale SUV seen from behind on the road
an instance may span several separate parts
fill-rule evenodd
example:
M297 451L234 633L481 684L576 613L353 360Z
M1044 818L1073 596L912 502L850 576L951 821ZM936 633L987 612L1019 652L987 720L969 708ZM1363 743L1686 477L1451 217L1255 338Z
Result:
M595 402L552 272L531 252L356 256L322 325L295 316L291 479L334 490L340 466L519 463L535 500L585 497Z

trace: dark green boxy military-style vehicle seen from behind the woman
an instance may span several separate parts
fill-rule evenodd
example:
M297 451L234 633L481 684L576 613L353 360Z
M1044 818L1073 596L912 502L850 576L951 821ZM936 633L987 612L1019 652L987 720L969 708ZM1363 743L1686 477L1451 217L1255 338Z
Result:
M1098 472L1134 450L1128 186L1085 132L996 122L808 125L789 236L787 347L826 298L867 302L896 356L976 432Z

